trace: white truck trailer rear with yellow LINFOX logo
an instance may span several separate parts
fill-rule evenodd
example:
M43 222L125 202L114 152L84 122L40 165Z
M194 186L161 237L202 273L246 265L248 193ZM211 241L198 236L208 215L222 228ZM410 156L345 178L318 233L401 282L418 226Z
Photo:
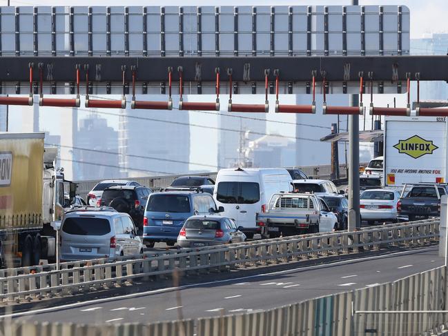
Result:
M447 182L445 117L386 117L384 123L385 186Z

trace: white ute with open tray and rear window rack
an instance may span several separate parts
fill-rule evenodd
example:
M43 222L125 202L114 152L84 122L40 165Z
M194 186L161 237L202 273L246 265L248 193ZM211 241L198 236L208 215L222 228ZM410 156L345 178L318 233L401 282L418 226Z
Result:
M338 218L312 193L280 192L272 195L264 213L257 213L262 237L329 232Z

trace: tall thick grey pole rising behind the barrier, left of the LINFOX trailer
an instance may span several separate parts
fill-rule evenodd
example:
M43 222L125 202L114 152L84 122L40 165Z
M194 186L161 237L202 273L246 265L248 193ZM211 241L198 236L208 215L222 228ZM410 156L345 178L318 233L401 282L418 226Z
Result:
M358 6L358 0L351 0ZM350 95L350 105L359 106L359 96ZM361 227L360 217L360 116L349 115L349 231Z

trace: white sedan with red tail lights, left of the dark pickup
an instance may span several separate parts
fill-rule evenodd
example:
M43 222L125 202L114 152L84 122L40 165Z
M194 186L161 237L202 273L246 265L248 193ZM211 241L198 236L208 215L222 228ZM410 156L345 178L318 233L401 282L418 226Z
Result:
M373 224L376 221L396 221L400 192L391 189L371 189L360 197L361 219Z

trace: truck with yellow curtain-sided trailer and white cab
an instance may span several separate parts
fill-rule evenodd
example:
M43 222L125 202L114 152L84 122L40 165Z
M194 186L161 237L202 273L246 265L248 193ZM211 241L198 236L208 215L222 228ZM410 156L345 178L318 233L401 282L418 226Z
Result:
M52 224L64 215L64 175L56 169L57 148L44 149L43 139L44 133L0 133L3 267L34 266L40 259L55 262ZM75 184L66 185L71 199Z

